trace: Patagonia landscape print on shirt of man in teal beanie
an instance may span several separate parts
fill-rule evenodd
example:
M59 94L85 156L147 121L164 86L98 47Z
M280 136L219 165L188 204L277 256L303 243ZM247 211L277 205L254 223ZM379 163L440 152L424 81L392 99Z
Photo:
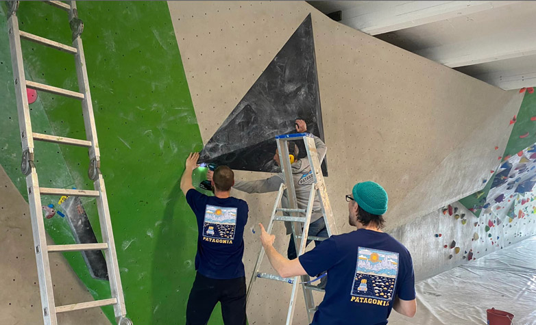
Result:
M359 247L350 301L388 306L397 275L397 252Z

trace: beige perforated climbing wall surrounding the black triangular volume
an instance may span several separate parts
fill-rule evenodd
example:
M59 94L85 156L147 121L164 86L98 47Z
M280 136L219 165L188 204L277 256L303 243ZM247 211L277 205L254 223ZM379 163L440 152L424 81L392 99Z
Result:
M480 190L496 166L495 146L504 148L512 131L504 120L517 114L522 101L517 92L504 92L335 23L307 3L168 5L204 143L311 14L328 146L326 181L339 231L350 230L344 196L357 181L373 180L386 188L389 229ZM263 127L263 121L254 126ZM237 131L249 136L247 129ZM236 172L237 179L267 176ZM260 249L253 232L257 222L268 222L274 195L233 195L250 207L244 260L251 274ZM288 239L282 227L276 235L276 248L283 252ZM261 270L271 269L264 265ZM289 286L258 281L248 304L249 321L280 324L288 298ZM299 298L295 321L305 323L305 317Z

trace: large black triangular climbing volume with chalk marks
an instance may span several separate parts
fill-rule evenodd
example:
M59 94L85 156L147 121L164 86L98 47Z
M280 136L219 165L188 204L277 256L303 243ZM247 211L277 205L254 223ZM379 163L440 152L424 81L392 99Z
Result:
M324 140L310 14L208 140L199 161L276 172L275 136L294 133L295 119L305 120L307 131ZM299 157L304 155L300 150ZM325 160L322 170L327 175Z

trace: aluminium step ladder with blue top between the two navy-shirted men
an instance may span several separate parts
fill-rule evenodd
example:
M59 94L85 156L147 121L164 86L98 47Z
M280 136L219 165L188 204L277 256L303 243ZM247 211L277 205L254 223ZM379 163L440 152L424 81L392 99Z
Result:
M313 174L313 184L310 187L309 199L306 209L298 209L297 207L296 193L294 189L294 181L291 170L291 161L289 159L289 147L287 146L288 141L302 140L305 143L307 157ZM291 222L297 256L300 256L303 255L305 252L307 242L306 239L327 239L331 235L337 233L337 228L335 226L330 201L328 199L328 192L326 190L326 184L324 183L324 176L322 175L320 161L318 159L317 154L317 147L315 146L315 139L313 138L313 135L311 135L310 133L278 135L276 137L276 142L278 144L278 152L280 153L279 157L281 161L281 170L284 175L285 183L281 184L279 187L278 196L276 198L276 203L273 205L273 210L271 213L270 222L268 224L267 233L271 233L274 221ZM284 190L287 190L290 208L280 207ZM311 213L313 213L313 204L315 202L315 196L318 196L320 199L322 213L324 215L323 218L326 222L326 229L328 231L328 237L314 237L308 235ZM284 215L278 215L277 213L283 213ZM315 301L313 299L313 291L324 291L324 289L319 289L315 285L311 285L309 283L310 278L308 275L301 276L301 281L299 281L300 276L295 276L293 278L282 278L276 274L267 274L260 272L259 269L261 263L263 262L264 255L265 250L264 248L261 248L257 258L257 262L255 263L252 279L251 281L249 281L249 287L247 287L247 300L249 301L249 297L251 296L250 294L252 292L252 287L257 278L266 278L268 280L282 281L291 284L292 293L289 302L289 309L287 312L287 322L285 323L287 325L290 325L292 324L294 315L297 286L302 285L308 320L309 323L312 322L313 315L315 315L315 311L317 310L317 307L315 306Z

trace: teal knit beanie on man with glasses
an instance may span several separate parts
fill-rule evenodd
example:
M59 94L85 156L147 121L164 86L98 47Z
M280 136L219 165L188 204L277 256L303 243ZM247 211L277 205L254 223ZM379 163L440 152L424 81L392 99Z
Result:
M368 213L380 216L387 211L387 192L378 183L357 183L352 194L357 204Z

